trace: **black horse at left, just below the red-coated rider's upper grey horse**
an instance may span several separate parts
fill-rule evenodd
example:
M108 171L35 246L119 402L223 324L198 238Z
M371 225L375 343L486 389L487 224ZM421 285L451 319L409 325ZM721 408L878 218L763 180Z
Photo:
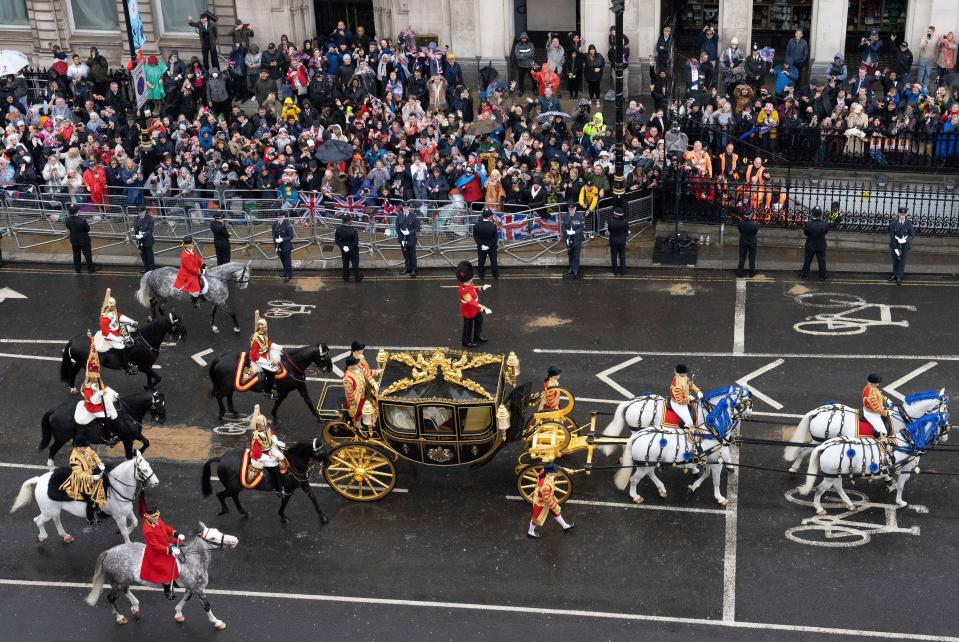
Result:
M147 376L144 390L154 390L162 377L153 369L160 356L160 346L170 335L174 341L186 340L186 327L176 312L150 321L131 333L133 345L127 348L130 363ZM70 392L76 392L77 374L86 367L90 352L90 340L86 334L78 334L63 347L60 360L60 380L67 384ZM111 370L123 370L123 360L116 350L100 354L100 367Z

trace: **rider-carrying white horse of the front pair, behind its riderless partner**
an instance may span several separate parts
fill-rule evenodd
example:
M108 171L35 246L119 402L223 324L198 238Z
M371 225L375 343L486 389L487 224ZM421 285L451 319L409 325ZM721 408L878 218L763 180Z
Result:
M948 411L949 397L946 395L945 388L939 392L930 390L909 395L901 408L893 405L889 411L889 416L892 418L892 432L898 433L916 419ZM796 445L786 447L784 454L786 461L793 462L789 472L794 473L799 470L803 460L812 453L817 444L833 437L856 437L859 430L858 416L858 410L839 403L828 403L807 412L792 437L789 438L789 441ZM810 438L814 443L806 445Z

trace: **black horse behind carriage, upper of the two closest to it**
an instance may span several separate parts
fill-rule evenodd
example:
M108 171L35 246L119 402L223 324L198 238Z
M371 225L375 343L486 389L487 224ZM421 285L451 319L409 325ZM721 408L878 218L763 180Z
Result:
M221 420L226 414L226 409L223 407L224 397L226 397L230 413L234 417L239 416L239 413L237 413L233 407L233 393L236 392L233 381L236 376L236 362L239 358L240 354L238 352L222 354L210 364L210 381L213 383L213 390L210 391L210 396L215 397L217 404L220 406L220 414L217 415L217 418ZM332 371L333 361L330 359L329 348L326 347L325 343L321 343L318 346L303 346L290 352L284 350L280 360L283 363L283 367L286 368L287 374L286 377L278 379L276 382L277 398L273 403L273 410L270 411L270 417L273 419L273 422L277 422L276 411L279 410L280 404L282 404L287 395L294 390L300 393L310 412L313 413L314 417L319 419L320 415L316 411L313 400L310 398L309 390L306 389L306 369L310 366L317 366L323 372ZM263 383L257 383L248 392L262 393Z

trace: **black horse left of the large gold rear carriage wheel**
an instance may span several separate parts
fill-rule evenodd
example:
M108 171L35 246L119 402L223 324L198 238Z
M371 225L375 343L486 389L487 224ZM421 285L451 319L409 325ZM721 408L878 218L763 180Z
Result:
M316 509L320 523L325 524L330 521L320 509L320 503L316 501L316 495L313 494L313 489L310 488L309 480L312 463L316 462L323 465L326 462L327 453L323 452L323 442L319 439L300 441L288 448L283 454L286 456L290 467L280 479L283 480L283 489L291 494L284 497L280 502L280 511L278 513L280 521L284 524L290 523L290 519L284 511L286 511L286 505L290 502L293 491L297 488L302 488L306 496L313 502L313 508ZM232 497L233 503L236 504L236 509L240 511L240 514L243 515L243 517L250 516L250 513L240 504L240 492L244 490L243 486L240 485L240 463L242 458L243 450L231 450L222 457L208 459L207 462L203 464L201 488L203 490L203 496L209 497L213 494L213 486L210 484L210 466L218 462L216 476L220 479L220 483L223 484L223 490L216 494L216 498L220 500L220 512L217 513L217 515L226 515L230 512L230 509L226 507L226 498ZM273 492L273 487L264 474L260 483L257 484L257 487L253 490Z

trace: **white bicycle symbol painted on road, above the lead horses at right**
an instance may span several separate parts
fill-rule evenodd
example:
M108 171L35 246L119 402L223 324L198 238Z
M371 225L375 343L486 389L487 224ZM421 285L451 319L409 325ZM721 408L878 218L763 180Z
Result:
M908 328L909 321L893 320L893 310L916 311L914 305L867 303L860 296L842 292L800 294L796 297L796 303L811 308L841 310L838 312L819 312L807 316L804 321L793 325L796 332L813 335L863 334L869 328L876 326ZM878 319L875 318L876 316L878 316Z

